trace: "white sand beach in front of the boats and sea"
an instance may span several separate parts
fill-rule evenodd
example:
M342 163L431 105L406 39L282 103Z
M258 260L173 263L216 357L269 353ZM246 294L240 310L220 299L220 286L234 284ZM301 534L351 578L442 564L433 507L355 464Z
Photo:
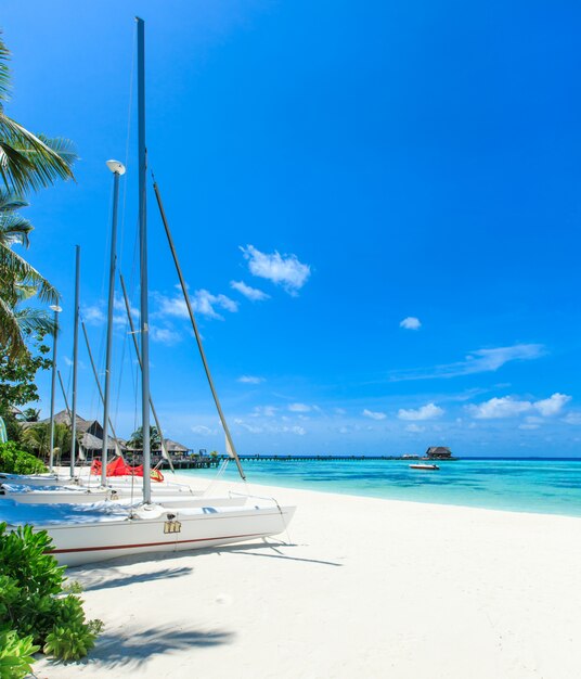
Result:
M581 518L250 489L289 535L72 569L105 631L37 677L581 676Z

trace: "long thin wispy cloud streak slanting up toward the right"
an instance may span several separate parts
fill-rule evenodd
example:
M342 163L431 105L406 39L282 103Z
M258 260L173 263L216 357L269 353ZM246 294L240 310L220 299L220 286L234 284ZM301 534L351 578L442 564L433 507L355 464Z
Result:
M511 361L526 361L544 356L542 344L515 344L511 347L478 349L468 354L463 361L436 366L429 372L425 369L406 370L391 375L391 381L434 380L436 377L459 377L479 372L495 372Z

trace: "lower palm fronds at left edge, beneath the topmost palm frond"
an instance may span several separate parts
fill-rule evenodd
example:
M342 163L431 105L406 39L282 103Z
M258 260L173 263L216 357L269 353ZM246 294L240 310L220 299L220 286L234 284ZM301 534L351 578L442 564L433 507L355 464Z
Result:
M22 303L35 295L43 303L59 302L59 293L49 281L12 249L14 245L29 245L33 225L16 212L26 205L22 197L0 190L0 343L11 357L25 350L24 332L54 331L44 310L22 308Z

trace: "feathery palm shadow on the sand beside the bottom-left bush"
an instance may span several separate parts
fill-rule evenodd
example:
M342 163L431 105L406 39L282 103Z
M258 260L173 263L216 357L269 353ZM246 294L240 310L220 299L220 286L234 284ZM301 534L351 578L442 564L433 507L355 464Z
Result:
M94 665L103 670L124 668L134 671L157 655L217 646L231 643L233 639L232 632L184 629L180 624L150 629L124 626L120 632L104 631L100 635L89 656L75 665L79 669L85 665ZM54 669L59 665L55 661L48 662L48 666Z

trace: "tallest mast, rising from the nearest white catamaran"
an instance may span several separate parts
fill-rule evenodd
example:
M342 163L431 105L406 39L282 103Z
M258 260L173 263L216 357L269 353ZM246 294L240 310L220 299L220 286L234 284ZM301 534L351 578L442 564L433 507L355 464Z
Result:
M139 252L141 271L141 424L143 433L143 502L151 504L150 453L150 319L147 305L147 214L145 151L145 24L138 22Z

